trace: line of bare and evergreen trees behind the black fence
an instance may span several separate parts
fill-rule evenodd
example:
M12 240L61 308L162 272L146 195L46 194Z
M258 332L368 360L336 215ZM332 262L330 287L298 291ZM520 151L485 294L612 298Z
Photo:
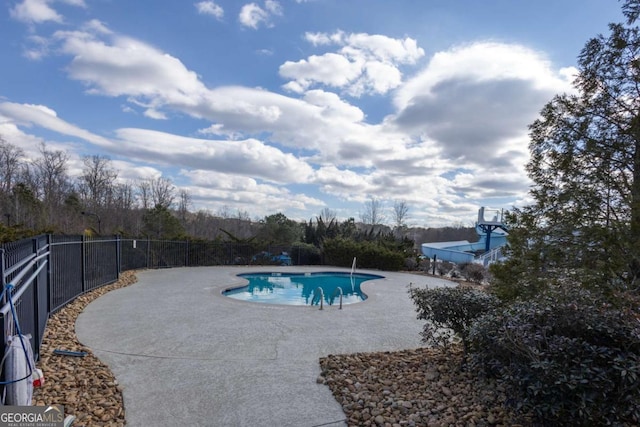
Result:
M375 198L364 204L360 221L338 221L328 208L309 221L293 221L282 213L252 219L249 212L228 207L215 213L194 211L189 192L168 178L125 182L118 175L108 157L90 155L82 158L80 173L71 176L66 152L42 143L37 157L27 159L20 147L0 135L0 240L53 233L319 246L327 237L391 236L416 244L477 238L470 227L407 227L409 206L404 201L394 203L393 227L382 225L382 204Z

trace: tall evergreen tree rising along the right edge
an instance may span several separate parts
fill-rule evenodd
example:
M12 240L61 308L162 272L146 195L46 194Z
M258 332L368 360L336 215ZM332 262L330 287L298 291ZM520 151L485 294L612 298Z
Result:
M575 92L556 96L531 125L535 203L512 218L513 256L495 269L498 287L576 274L587 285L638 288L639 10L627 0L627 22L586 43Z

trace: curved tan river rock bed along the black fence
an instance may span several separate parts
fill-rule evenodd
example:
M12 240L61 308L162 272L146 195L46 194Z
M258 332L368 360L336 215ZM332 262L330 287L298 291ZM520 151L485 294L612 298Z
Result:
M76 417L74 426L125 425L122 387L107 365L78 341L75 323L91 301L135 282L133 271L124 272L116 283L81 295L51 315L37 363L45 383L34 388L34 405L64 405L65 414ZM56 349L85 352L86 356L61 356L53 353Z

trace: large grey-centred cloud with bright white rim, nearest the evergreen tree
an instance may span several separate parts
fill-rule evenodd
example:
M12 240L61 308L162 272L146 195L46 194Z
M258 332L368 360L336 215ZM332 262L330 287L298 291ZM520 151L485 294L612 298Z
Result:
M423 135L459 163L509 172L528 153L528 125L551 97L570 88L538 52L474 43L436 53L400 87L389 122Z

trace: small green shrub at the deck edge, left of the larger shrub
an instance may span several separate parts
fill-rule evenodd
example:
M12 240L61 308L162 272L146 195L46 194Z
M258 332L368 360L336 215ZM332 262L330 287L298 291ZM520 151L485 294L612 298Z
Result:
M412 287L409 295L416 305L418 319L427 321L422 329L422 341L446 348L454 338L459 338L465 354L473 321L495 308L498 302L486 292L463 287Z

